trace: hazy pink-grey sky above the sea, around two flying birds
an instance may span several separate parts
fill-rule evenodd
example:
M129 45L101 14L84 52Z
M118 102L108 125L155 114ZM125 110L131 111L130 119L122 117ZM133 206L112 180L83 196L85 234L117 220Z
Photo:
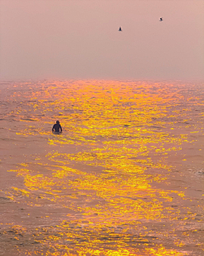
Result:
M204 79L203 0L0 0L0 9L1 80Z

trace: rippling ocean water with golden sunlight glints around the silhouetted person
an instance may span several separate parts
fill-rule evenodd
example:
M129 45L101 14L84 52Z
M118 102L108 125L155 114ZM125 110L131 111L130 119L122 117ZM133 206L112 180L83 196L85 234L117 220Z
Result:
M0 255L204 255L204 84L0 90Z

